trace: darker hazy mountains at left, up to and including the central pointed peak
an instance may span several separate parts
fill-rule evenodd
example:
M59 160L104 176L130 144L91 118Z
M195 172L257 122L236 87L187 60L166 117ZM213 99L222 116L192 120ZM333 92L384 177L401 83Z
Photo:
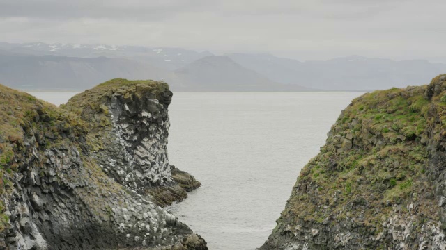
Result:
M22 90L84 90L111 78L167 81L176 91L305 90L270 81L224 56L208 56L170 72L125 58L33 56L0 51L0 82Z

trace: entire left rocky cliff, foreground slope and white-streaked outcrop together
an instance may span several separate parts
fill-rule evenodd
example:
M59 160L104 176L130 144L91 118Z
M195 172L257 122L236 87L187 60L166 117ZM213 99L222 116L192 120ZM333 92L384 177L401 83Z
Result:
M116 79L56 108L0 85L0 249L207 249L144 188L180 189L170 98L165 83Z

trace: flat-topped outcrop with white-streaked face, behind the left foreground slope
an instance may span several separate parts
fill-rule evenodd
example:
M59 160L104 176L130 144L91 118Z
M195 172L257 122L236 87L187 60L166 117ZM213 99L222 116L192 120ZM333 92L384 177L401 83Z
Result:
M138 194L152 194L160 205L180 201L185 190L201 185L185 172L171 173L167 108L172 95L167 83L116 78L63 106L86 122L87 144L102 170Z

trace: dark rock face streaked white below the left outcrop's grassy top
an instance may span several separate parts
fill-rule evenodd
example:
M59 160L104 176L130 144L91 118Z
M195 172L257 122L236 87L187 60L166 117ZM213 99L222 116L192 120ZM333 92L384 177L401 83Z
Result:
M151 95L150 92L114 93L103 103L108 110L105 119L111 126L92 131L102 141L103 149L93 151L102 169L118 183L139 193L171 181L167 106Z

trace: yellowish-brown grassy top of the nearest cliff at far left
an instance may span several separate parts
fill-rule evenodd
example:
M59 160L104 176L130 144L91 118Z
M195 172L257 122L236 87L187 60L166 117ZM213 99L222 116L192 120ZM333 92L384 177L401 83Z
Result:
M40 101L30 94L0 85L0 231L10 217L5 201L14 189L14 175L24 171L21 159L27 148L49 149L63 140L82 140L86 134L82 120L66 110ZM26 142L33 133L33 145Z

